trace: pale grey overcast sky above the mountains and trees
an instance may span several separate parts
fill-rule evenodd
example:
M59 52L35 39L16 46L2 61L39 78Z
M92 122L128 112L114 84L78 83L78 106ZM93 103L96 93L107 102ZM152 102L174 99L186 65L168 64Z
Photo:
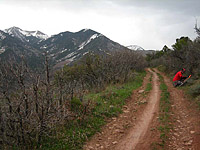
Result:
M89 28L124 46L162 49L197 36L200 0L0 0L0 20L0 30L54 35Z

